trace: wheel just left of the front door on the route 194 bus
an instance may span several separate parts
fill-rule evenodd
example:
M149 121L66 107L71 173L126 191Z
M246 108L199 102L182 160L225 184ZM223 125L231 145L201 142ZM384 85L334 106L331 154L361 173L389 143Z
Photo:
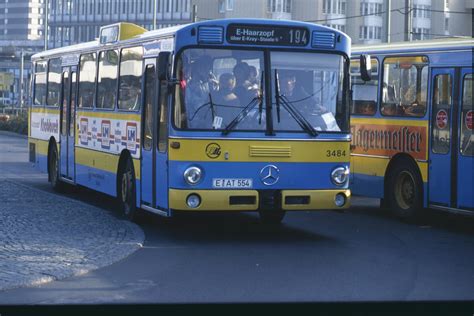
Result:
M121 168L118 179L120 181L118 202L121 212L127 219L134 221L137 219L135 171L130 158Z

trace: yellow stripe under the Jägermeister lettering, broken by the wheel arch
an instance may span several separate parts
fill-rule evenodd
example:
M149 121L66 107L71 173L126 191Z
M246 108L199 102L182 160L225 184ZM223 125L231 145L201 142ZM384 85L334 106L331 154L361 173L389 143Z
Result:
M390 159L371 156L351 156L351 172L368 176L384 177ZM428 182L428 163L416 162L423 182Z

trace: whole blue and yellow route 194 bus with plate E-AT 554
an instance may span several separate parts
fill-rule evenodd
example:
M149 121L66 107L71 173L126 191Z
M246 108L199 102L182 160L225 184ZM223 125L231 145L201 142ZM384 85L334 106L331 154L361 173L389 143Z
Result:
M347 208L350 46L289 21L104 26L33 56L30 160L130 219Z

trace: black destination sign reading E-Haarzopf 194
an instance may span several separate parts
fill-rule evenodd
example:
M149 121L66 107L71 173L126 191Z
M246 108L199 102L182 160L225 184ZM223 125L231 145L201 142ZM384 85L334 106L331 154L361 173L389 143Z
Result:
M233 44L306 46L309 30L294 26L230 24L226 38Z

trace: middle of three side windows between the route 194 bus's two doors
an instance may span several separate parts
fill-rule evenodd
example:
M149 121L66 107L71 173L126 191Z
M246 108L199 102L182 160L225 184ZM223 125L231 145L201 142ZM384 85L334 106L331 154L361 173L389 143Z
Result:
M97 78L97 108L113 109L117 96L118 52L108 50L99 54Z

